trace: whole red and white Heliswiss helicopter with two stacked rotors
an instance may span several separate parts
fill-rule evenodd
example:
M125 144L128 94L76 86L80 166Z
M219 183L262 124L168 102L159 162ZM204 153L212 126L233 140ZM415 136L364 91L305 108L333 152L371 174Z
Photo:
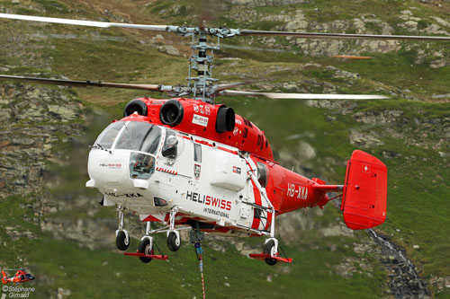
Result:
M217 96L266 96L271 99L371 100L379 95L244 92L240 84L217 84L211 77L212 51L220 39L237 36L295 36L303 39L450 40L437 36L392 36L291 31L256 31L201 26L139 25L90 22L0 13L0 18L53 22L99 28L132 28L173 32L192 37L188 84L113 84L13 75L4 80L76 87L97 86L166 92L171 99L130 101L123 119L113 121L98 136L89 154L86 187L103 194L103 206L117 206L116 244L126 251L130 235L123 227L124 210L146 222L137 253L142 262L167 259L155 254L155 233L166 233L170 251L181 245L180 230L190 230L198 249L204 233L225 236L266 236L264 251L250 257L269 265L282 258L275 238L275 216L303 207L324 207L329 192L342 192L344 220L351 229L383 224L386 217L387 168L377 158L356 150L347 163L342 185L308 179L274 161L264 134L232 108L215 104ZM217 43L207 43L207 37ZM164 223L151 228L152 222Z

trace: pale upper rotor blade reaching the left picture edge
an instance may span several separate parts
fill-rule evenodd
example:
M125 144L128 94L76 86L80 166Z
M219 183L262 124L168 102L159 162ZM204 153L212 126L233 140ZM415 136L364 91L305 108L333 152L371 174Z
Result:
M55 22L58 24L90 26L90 27L100 27L100 28L110 28L110 27L134 28L134 29L145 29L148 31L166 31L167 27L169 27L166 25L139 25L139 24L128 24L128 23L121 23L121 22L94 22L94 21L48 18L48 17L33 16L33 15L10 14L10 13L0 13L0 18L24 20L24 21L35 21L35 22Z

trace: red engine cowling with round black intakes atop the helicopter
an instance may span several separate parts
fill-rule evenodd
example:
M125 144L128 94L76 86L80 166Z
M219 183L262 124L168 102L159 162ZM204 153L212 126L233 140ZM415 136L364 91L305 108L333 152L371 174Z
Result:
M153 124L175 128L235 146L269 161L274 160L264 132L225 105L211 105L191 99L139 98L127 104L123 112L125 119L122 120L126 120L134 112L148 117L148 121Z

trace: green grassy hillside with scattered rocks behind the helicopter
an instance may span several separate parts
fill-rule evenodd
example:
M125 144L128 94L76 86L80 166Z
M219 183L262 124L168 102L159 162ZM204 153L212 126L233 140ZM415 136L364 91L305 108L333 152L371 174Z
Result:
M396 34L450 31L445 25L450 20L450 6L444 1L318 0L284 4L289 2L280 0L271 2L276 5L258 6L257 1L220 1L215 11L221 13L216 13L210 23L261 30ZM110 22L195 24L200 10L191 1L0 1L2 13ZM364 22L364 28L356 19ZM416 29L411 30L405 22L416 22ZM439 29L430 27L433 24ZM0 41L1 73L103 82L183 84L187 74L184 56L190 54L188 38L165 33L157 36L154 32L3 20ZM331 183L341 183L346 160L354 149L362 148L380 157L389 170L388 217L377 232L404 248L434 296L450 295L444 286L446 279L450 280L450 207L446 205L450 198L450 100L448 95L432 97L449 92L449 43L377 45L262 37L223 43L229 47L216 53L214 68L214 75L222 82L257 79L246 88L392 96L392 100L365 102L254 98L219 101L265 130L275 148L275 157L285 167L294 167L306 175L314 173ZM175 47L178 54L167 54L167 46ZM330 56L336 54L334 49L338 54L361 54L373 59L333 58ZM439 65L442 60L444 66ZM170 254L168 262L152 261L149 265L121 256L113 244L115 211L100 208L96 204L99 195L84 187L88 180L86 145L93 143L111 119L120 119L124 105L142 92L33 88L40 93L31 98L41 101L33 100L25 106L23 99L29 99L31 91L21 93L23 85L3 84L0 113L12 106L20 107L22 113L39 110L45 105L40 94L55 91L75 102L83 116L77 114L75 119L66 121L65 117L47 119L45 114L28 120L21 118L20 113L16 117L0 114L8 120L0 127L0 191L5 194L0 199L0 267L30 268L37 277L35 297L201 297L200 273L191 245L184 242L182 250ZM157 93L146 95L163 97ZM45 109L40 113L45 113ZM49 116L54 118L58 113ZM67 128L71 126L67 123L80 124L82 128ZM24 141L30 137L26 130L36 126L47 130L49 137L34 145L17 142L17 146L23 146L22 161L14 160L8 147L14 143L6 145L4 140L17 137ZM313 148L313 155L305 154L305 144ZM30 147L38 145L50 148L49 153L40 155L40 160L45 161L43 177L31 183L29 177L23 178L23 170L14 181L5 180L12 171L8 165L33 163L35 157L27 153ZM22 180L24 185L19 184ZM341 215L332 205L323 212L316 208L308 213L310 225L305 224L302 211L279 220L279 235L284 251L294 259L292 265L269 268L241 253L242 248L258 251L264 242L262 238L211 238L204 242L207 295L392 296L380 250L365 232L348 233L342 229ZM143 225L132 215L127 215L127 225L134 237L143 233ZM138 242L132 240L130 251L135 251ZM160 239L158 244L167 252L165 240Z

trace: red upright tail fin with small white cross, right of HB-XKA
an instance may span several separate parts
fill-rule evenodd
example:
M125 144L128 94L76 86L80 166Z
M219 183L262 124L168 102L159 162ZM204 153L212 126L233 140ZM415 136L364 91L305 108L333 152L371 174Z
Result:
M387 167L370 154L356 150L347 162L341 210L354 230L372 228L386 219Z

